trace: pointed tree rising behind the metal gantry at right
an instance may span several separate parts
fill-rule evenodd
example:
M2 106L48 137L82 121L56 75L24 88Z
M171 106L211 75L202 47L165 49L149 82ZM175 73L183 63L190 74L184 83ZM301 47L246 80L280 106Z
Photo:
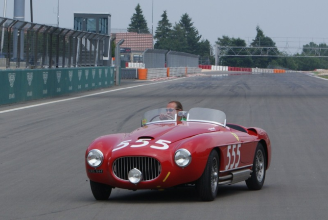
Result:
M257 48L257 47L273 47L276 48L276 43L270 38L264 35L262 29L257 26L257 35L256 38L253 40L251 43L251 47ZM278 49L276 48L278 51ZM275 54L274 51L269 50L269 49L262 49L261 51L259 50L254 50L252 52L254 55L260 55L261 53L268 53L268 55L277 55ZM266 56L266 57L253 57L253 63L256 67L258 68L267 68L267 66L273 61L276 60L277 57L271 57L271 56Z

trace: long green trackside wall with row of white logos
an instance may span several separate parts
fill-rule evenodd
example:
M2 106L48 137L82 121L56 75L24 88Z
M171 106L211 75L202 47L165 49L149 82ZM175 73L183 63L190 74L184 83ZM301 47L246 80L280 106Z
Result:
M0 71L0 105L110 87L114 67Z

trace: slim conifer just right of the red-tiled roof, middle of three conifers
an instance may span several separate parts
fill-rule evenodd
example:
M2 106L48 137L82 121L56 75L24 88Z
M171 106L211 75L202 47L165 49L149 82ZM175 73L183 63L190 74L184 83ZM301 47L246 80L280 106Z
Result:
M157 29L155 31L154 39L156 43L154 45L155 49L166 49L167 40L169 39L172 24L167 19L166 11L162 14L162 20L158 22Z

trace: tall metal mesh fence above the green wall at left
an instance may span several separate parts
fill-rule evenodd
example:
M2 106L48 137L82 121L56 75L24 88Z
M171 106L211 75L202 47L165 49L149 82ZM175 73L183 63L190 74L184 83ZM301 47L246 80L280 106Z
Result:
M102 66L108 35L0 17L0 69Z

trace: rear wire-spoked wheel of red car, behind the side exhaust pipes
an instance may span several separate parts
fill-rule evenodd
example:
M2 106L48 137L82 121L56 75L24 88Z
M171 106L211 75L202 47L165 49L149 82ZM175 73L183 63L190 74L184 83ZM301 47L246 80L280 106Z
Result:
M261 143L258 143L258 147L255 150L255 157L252 168L251 177L246 180L246 185L250 190L260 190L264 184L265 179L265 153Z

